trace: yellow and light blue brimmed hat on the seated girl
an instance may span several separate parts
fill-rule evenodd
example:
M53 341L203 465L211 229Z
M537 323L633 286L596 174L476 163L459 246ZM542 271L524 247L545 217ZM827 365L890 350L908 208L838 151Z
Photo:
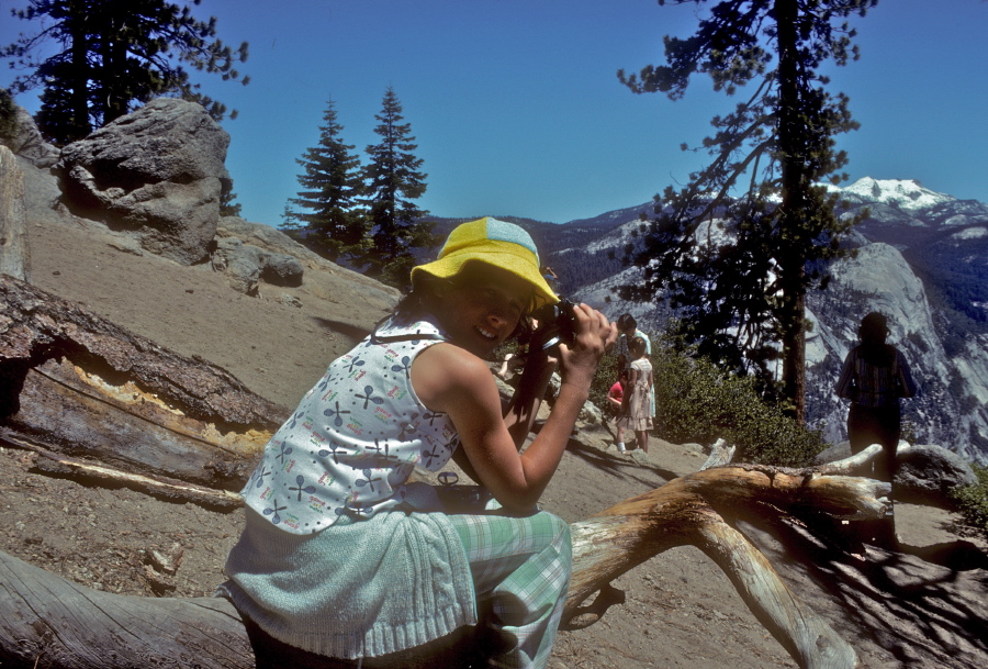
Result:
M453 228L436 260L412 269L412 282L419 272L449 279L470 260L506 269L528 281L535 291L537 308L559 302L559 297L539 271L539 252L531 236L514 223L491 216L461 223Z

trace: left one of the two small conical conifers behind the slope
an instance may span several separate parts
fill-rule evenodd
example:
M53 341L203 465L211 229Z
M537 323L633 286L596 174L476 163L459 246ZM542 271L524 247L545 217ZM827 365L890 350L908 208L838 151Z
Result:
M359 199L363 194L360 158L352 144L343 140L344 126L337 122L333 100L326 104L319 144L295 160L305 172L299 175L304 190L290 203L302 211L285 208L283 228L326 258L363 258L369 241L368 224Z

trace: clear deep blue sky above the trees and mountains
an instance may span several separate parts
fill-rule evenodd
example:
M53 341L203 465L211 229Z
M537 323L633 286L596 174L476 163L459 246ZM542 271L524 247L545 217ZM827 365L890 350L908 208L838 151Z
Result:
M32 26L0 0L0 43ZM680 150L736 101L696 78L672 102L616 77L662 62L696 9L654 0L203 0L227 43L250 43L249 86L203 78L239 111L227 168L250 221L278 225L326 100L361 158L391 86L424 159L419 204L441 216L551 222L647 202L704 156ZM917 179L988 202L988 2L882 0L855 20L862 57L835 68L862 127L844 135L854 179ZM0 85L12 78L0 70ZM34 111L30 93L18 102Z

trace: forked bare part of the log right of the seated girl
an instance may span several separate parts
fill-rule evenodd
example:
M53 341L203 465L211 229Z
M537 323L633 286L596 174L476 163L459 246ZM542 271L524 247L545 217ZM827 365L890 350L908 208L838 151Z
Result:
M774 506L874 519L885 513L888 490L887 483L858 477L751 465L673 479L571 526L574 565L566 614L579 615L580 604L595 592L606 592L610 581L652 556L692 545L725 571L759 621L801 667L854 667L857 659L851 646L793 595L765 557L717 509L730 509L736 516ZM595 611L584 624L598 616Z

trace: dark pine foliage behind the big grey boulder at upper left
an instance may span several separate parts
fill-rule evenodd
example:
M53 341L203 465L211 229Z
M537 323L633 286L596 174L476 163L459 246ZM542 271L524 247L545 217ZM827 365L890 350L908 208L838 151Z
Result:
M218 74L223 80L249 81L234 69L234 63L247 59L247 43L233 49L213 40L216 19L199 21L188 5L166 0L30 0L26 9L12 14L38 21L42 30L0 48L0 57L32 70L15 78L10 90L16 94L44 88L37 123L55 144L85 137L135 103L162 94L199 102L217 121L225 118L226 107L201 93L184 66ZM60 51L37 59L38 47L50 42Z

